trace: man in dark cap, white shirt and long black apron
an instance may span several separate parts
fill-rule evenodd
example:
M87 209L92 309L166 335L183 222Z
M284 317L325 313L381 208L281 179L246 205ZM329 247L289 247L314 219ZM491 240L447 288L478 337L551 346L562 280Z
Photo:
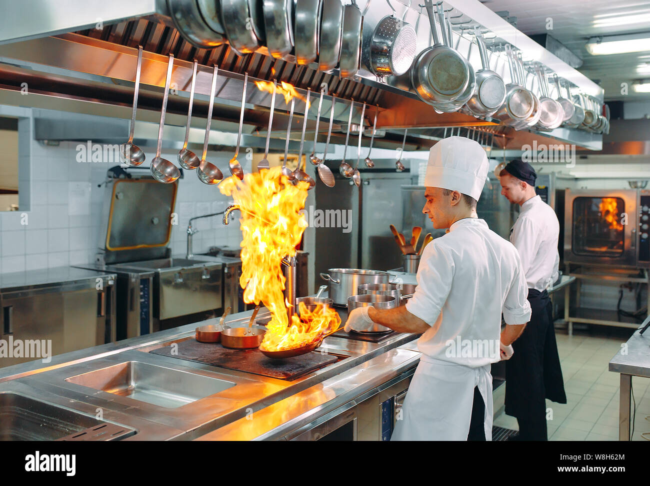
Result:
M515 416L519 435L511 440L547 440L546 399L567 403L547 288L558 277L560 223L535 192L537 174L521 159L499 173L501 194L521 207L510 231L519 252L532 310L530 323L506 363L506 414Z

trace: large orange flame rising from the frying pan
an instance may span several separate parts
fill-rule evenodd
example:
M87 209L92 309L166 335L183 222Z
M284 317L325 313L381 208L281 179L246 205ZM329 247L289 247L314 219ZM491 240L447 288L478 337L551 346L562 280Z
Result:
M309 312L304 304L300 317L287 316L283 295L285 277L281 261L295 256L296 245L307 226L300 214L307 198L306 182L292 185L281 167L246 174L244 180L233 176L220 184L220 191L232 196L241 210L242 275L244 302L263 303L271 312L268 331L261 345L268 351L293 349L318 340L341 324L331 308L319 306ZM301 303L302 304L302 303Z

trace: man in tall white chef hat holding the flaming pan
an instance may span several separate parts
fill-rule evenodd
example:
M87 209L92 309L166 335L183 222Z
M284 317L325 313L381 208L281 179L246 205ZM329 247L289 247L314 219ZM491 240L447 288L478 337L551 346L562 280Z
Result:
M490 365L512 356L530 305L517 250L476 215L487 165L483 148L464 137L431 148L422 212L434 228L449 231L422 252L406 306L357 308L346 321L346 331L379 323L422 333L422 355L392 440L491 440Z

